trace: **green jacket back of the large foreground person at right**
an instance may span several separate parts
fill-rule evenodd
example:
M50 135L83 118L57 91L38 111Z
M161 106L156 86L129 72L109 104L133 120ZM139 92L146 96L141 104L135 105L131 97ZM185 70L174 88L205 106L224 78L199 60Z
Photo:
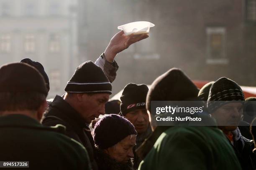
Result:
M241 170L241 166L218 128L175 126L159 136L138 169Z

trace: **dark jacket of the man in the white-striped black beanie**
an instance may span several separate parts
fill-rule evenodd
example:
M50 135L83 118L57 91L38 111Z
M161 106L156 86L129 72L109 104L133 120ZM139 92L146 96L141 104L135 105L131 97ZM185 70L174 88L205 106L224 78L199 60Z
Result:
M92 169L97 170L94 158L94 142L91 132L79 113L69 105L61 96L56 95L49 109L44 115L43 125L55 126L61 124L66 126L66 135L81 143L87 150Z

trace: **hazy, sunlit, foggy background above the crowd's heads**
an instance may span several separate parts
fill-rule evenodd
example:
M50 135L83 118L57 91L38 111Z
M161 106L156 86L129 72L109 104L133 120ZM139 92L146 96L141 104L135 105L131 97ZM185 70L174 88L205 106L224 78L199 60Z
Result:
M80 63L104 52L119 25L133 21L156 26L115 57L113 94L129 82L151 84L172 67L192 80L225 76L256 86L256 0L0 0L0 64L41 62L52 98Z

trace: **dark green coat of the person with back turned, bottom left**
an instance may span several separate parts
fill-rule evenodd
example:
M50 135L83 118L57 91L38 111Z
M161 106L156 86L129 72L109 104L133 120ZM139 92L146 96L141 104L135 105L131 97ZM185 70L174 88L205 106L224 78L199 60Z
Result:
M29 161L30 170L91 170L85 148L61 130L25 115L0 116L0 161Z

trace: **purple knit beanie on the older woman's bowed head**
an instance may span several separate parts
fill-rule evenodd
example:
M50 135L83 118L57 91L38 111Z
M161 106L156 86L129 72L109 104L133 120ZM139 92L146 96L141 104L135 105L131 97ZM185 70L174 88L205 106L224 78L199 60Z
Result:
M95 124L93 139L95 145L104 150L114 146L128 135L137 135L133 124L124 117L110 114L102 117Z

